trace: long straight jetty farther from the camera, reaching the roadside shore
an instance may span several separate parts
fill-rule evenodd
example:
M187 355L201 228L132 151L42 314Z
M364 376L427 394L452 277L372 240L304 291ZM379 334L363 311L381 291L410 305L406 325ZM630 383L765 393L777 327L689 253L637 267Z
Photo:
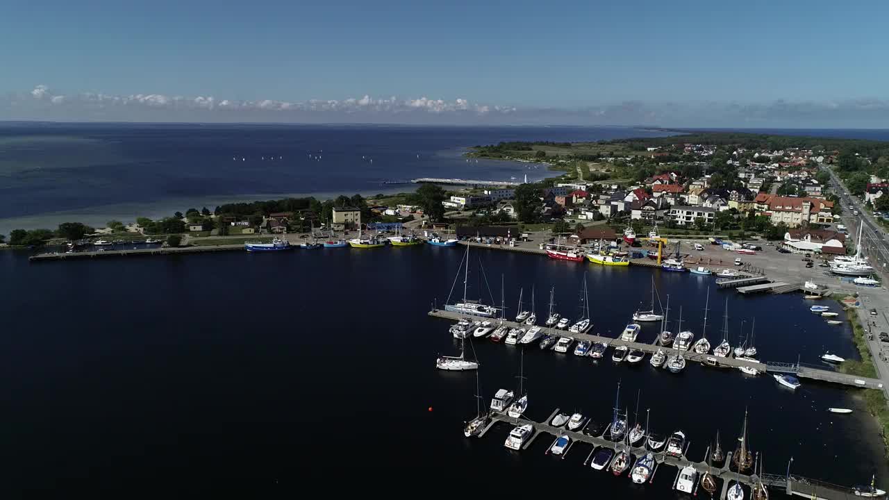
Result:
M485 319L481 317L473 317L460 312L453 312L451 310L441 310L441 309L433 309L428 312L429 316L434 318L441 319L450 319L453 321L459 321L460 319ZM496 319L493 319L496 320ZM515 321L503 321L504 324L509 327L518 328L525 327L526 325L522 325ZM760 361L750 361L747 359L734 359L734 358L719 358L712 354L699 354L694 351L680 351L678 349L673 349L672 347L664 347L657 343L657 338L653 343L639 343L639 342L627 342L623 341L620 338L613 337L605 337L601 335L590 335L590 334L575 334L570 333L566 330L557 330L556 328L546 328L547 333L552 335L561 335L561 336L571 336L574 337L574 340L585 340L589 342L599 342L605 343L609 347L616 347L620 345L627 346L628 349L637 349L638 351L643 351L649 354L653 354L658 350L663 350L668 356L671 354L682 354L683 357L688 361L696 361L703 365L708 365L711 367L733 367L733 368L741 368L741 367L749 367L756 369L759 373L781 373L781 374L796 374L797 376L818 380L821 382L827 383L841 383L844 385L851 385L853 387L864 387L868 389L883 389L883 382L876 378L869 377L861 377L856 375L847 375L841 374L838 372L825 370L823 368L816 367L808 367L805 365L800 365L798 363L774 363L767 362L763 363Z

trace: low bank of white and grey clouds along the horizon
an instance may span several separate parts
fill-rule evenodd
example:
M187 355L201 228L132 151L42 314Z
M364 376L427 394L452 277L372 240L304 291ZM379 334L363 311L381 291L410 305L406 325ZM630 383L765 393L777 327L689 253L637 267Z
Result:
M417 125L657 125L711 127L889 127L889 101L648 102L522 108L466 99L235 101L156 93L57 93L48 85L0 95L0 120Z

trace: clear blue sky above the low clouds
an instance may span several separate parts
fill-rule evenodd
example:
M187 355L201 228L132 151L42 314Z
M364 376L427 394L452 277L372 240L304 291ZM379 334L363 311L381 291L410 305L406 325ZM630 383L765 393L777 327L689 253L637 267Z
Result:
M180 96L173 118L199 111L185 111L198 96L291 103L296 108L279 115L299 121L308 101L366 95L371 103L396 97L369 121L407 102L429 111L428 101L416 101L425 97L445 103L444 113L432 106L424 115L432 122L455 108L465 119L655 116L658 125L671 117L684 122L676 125L733 125L716 123L714 109L741 106L785 125L805 117L799 106L807 105L818 113L845 109L836 117L845 126L889 126L887 14L889 4L863 1L15 0L0 17L0 93L14 101L0 103L0 119L95 118L91 106L101 100L81 97L92 93L159 95L168 103ZM36 85L46 86L43 104L27 101L39 101ZM797 115L769 117L776 102ZM116 113L159 118L166 104L154 104ZM239 109L252 119L253 108Z

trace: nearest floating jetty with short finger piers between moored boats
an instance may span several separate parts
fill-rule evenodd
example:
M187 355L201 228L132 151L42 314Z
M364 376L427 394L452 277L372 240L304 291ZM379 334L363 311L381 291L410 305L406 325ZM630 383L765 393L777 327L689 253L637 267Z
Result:
M527 442L525 442L525 445L522 447L523 450L530 448L533 441L541 436L541 434L549 434L555 437L568 436L569 438L571 438L572 443L569 445L569 448L565 450L563 458L567 456L568 452L571 451L571 447L573 447L574 443L576 442L582 442L592 445L594 450L596 448L609 448L615 452L615 455L618 451L624 449L623 442L605 439L607 429L599 436L591 435L584 432L587 426L589 426L589 420L584 423L581 431L569 431L564 427L556 427L554 425L551 425L550 422L552 422L553 417L557 415L558 411L559 408L553 410L553 412L549 414L549 417L547 417L544 422L536 422L524 416L512 418L509 415L506 415L506 413L493 413L491 415L491 422L488 423L481 432L479 432L478 438L484 438L485 434L490 431L491 428L497 423L508 423L511 425L530 424L534 429L533 435ZM645 456L645 454L647 453L651 453L654 456L656 464L649 482L652 482L654 480L654 474L655 472L657 472L657 469L661 465L676 467L677 473L687 466L692 466L698 472L698 478L694 487L695 492L697 491L697 488L701 486L703 475L705 473L709 473L711 476L719 478L723 481L721 492L718 494L718 498L722 500L725 500L726 498L726 493L731 481L740 482L741 484L747 485L749 488L757 488L757 486L762 483L767 488L781 488L787 495L804 496L805 498L814 500L851 500L856 497L861 498L861 496L855 495L855 490L853 488L846 488L820 480L804 478L802 476L779 476L775 474L764 473L760 477L757 476L757 474L742 474L741 472L734 472L730 468L733 456L733 452L731 451L725 454L723 465L717 467L715 465L709 465L706 462L706 458L709 455L709 448L704 456L703 462L694 462L693 460L690 460L688 458L688 449L691 447L691 443L686 444L685 452L681 456L670 456L665 453L666 446L662 448L660 452L655 453L649 450L649 448L646 448L646 441L647 436L645 436L644 440L642 441L643 446L631 446L627 449L629 450L629 455L631 456ZM590 451L590 456L592 456L592 451ZM583 464L588 465L588 461L589 456L586 460L584 460ZM632 467L629 467L630 472L624 472L624 475L629 475L632 469ZM697 495L695 494L695 496ZM717 495L714 495L714 497L717 497Z

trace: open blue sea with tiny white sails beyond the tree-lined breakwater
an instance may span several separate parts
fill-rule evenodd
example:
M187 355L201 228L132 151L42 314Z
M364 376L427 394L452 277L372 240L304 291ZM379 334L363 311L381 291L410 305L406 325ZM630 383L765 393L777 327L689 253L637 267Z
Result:
M413 190L416 177L538 180L540 165L473 160L499 141L665 135L626 127L0 124L0 234L59 222L132 222L291 195Z

